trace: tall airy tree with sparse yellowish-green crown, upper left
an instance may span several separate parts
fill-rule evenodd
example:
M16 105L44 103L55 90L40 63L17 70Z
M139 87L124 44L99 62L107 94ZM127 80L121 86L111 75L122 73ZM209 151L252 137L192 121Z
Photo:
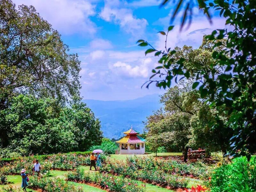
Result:
M80 61L33 6L0 0L0 109L20 93L65 102L79 94Z

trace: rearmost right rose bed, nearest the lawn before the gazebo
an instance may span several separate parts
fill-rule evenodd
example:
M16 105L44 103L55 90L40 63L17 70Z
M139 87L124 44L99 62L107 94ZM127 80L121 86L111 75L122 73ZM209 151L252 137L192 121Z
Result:
M207 166L200 161L196 163L184 163L172 159L128 156L126 158L126 163L133 164L138 169L162 170L168 174L177 174L199 179L208 179L212 172L212 167Z

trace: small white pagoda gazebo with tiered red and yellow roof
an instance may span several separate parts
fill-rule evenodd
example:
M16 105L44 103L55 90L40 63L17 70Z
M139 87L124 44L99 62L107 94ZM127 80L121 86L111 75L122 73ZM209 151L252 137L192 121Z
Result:
M119 143L120 154L145 154L145 139L140 137L138 133L131 128L124 132L126 136L116 141Z

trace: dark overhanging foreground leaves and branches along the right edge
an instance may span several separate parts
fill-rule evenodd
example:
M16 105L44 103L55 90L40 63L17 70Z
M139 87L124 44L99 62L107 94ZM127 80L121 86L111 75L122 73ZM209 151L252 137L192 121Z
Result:
M163 2L163 5L170 0ZM172 19L175 18L183 3L187 3L182 20L182 25L187 19L188 12L192 18L191 0L180 0ZM198 87L202 98L209 98L211 106L223 106L225 111L230 115L229 121L233 125L234 134L230 138L230 146L233 155L245 155L250 160L251 155L256 152L256 2L255 0L214 0L202 1L197 0L200 9L211 19L209 9L213 8L220 12L220 16L224 16L226 24L232 26L232 30L218 29L214 30L209 40L214 44L213 48L223 47L223 43L219 40L225 39L225 49L212 52L212 58L216 62L212 62L212 67L220 66L220 74L212 78L211 75L200 70L196 73L193 88ZM190 20L191 22L191 20ZM168 28L168 32L161 34L168 36L173 26ZM148 42L144 40L138 41L140 46L147 46ZM146 51L155 52L154 48ZM161 55L159 63L161 66L153 69L154 75L159 74L159 81L156 85L159 87L170 87L173 78L178 76L190 78L190 72L184 68L186 58L180 58L177 61L178 66L172 68L173 59L169 59L176 53L171 48L166 52L157 51L156 56ZM158 69L165 69L166 72L161 73ZM203 82L201 80L204 80ZM152 83L152 82L150 82ZM218 118L218 117L217 117ZM216 119L218 120L218 119ZM218 121L213 128L222 129L223 124ZM240 151L239 153L236 153Z

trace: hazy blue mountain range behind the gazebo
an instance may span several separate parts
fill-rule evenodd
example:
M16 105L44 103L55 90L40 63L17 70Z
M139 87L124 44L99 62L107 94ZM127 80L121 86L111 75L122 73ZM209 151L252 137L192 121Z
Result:
M147 116L152 111L159 109L159 95L147 95L134 100L83 100L92 109L93 113L101 122L101 130L104 137L120 138L124 131L132 127L142 133Z

